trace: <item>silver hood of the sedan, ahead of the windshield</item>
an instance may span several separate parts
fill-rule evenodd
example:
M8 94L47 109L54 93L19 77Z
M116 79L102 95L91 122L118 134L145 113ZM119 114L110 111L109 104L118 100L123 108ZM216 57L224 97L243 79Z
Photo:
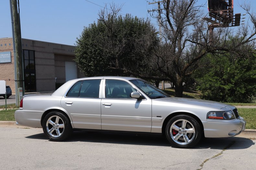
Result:
M189 104L189 105L199 105L199 106L212 107L217 109L221 109L227 106L227 104L210 101L210 100L190 99L190 98L181 98L181 97L165 97L165 98L159 98L159 99L153 99L153 100L161 100L165 102Z

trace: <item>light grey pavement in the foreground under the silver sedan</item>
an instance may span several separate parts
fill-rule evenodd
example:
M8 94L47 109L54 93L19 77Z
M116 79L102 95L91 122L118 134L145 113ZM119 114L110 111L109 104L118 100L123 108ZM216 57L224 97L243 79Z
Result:
M0 126L0 169L256 169L255 138L206 138L192 149L162 136L74 132L51 142L41 128Z

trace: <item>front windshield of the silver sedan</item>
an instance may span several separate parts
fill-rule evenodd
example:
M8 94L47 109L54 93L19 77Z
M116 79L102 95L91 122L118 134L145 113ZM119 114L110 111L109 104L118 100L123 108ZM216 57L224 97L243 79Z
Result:
M163 92L154 85L149 84L145 80L130 80L140 90L142 90L151 99L170 97L167 93Z

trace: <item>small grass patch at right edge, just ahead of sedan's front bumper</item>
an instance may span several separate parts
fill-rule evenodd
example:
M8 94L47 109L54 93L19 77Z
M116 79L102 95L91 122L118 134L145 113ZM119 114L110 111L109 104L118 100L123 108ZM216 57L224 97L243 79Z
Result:
M246 129L256 129L256 109L255 108L238 108L239 116L246 121Z

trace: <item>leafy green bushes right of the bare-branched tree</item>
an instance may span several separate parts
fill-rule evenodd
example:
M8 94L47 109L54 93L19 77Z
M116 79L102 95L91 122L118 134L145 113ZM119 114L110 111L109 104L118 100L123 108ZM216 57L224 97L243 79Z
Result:
M255 55L208 55L207 60L208 68L201 70L196 79L203 99L235 103L255 99Z

